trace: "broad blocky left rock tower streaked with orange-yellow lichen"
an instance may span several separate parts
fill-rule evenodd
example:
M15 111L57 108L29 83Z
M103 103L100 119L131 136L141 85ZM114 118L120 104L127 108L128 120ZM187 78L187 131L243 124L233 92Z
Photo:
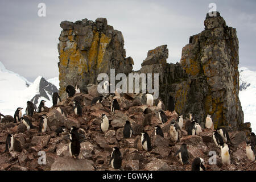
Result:
M133 59L127 57L123 48L122 32L108 25L106 18L60 23L58 44L60 96L64 97L67 85L97 84L99 73L130 73Z

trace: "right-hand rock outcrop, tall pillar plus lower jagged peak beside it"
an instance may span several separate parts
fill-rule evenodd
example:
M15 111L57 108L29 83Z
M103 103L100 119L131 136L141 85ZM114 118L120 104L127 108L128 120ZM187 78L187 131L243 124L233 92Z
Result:
M180 63L166 63L168 49L159 46L148 51L138 73L159 73L159 97L167 106L172 96L177 113L195 113L201 126L210 114L215 128L237 130L243 126L243 111L236 29L226 26L219 13L207 14L204 24L205 30L183 47Z

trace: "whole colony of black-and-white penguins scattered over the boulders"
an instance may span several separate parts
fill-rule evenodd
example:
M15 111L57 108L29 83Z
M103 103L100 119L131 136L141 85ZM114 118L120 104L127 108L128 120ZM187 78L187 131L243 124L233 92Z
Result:
M109 84L106 84L106 86L109 86ZM67 97L72 101L73 106L73 113L76 115L76 117L82 117L82 114L84 113L83 107L84 104L82 104L81 100L75 97L76 93L80 93L79 87L76 86L76 88L73 88L73 86L68 85L66 88ZM114 95L117 95L116 93ZM118 94L120 96L120 94ZM212 132L212 138L214 143L216 144L216 150L220 150L219 154L222 159L222 164L224 165L230 165L232 163L232 159L230 158L230 145L232 145L232 142L229 138L229 134L226 131L224 127L217 128L214 130L214 125L211 116L208 114L205 119L205 129L202 129L200 126L199 121L197 121L196 115L193 113L187 113L184 115L184 117L187 117L187 122L184 125L183 115L178 114L177 118L170 121L170 124L165 125L168 121L168 117L166 113L164 112L164 105L161 100L158 101L158 103L155 105L158 109L156 111L152 111L149 109L149 106L154 105L154 100L152 100L151 94L146 94L146 105L148 106L146 109L144 109L143 114L154 114L156 118L159 119L159 125L156 125L154 127L154 135L159 135L162 138L166 138L164 136L162 127L164 126L170 126L170 130L168 131L168 137L172 142L175 143L179 142L180 138L183 136L183 132L187 131L188 135L199 135L203 130ZM118 98L113 97L112 94L109 95L103 95L99 97L94 97L91 102L91 106L102 104L104 100L109 100L110 105L110 111L108 116L110 118L112 115L115 115L115 111L121 110L120 103L118 103ZM53 106L51 109L56 109L63 117L67 118L68 114L65 111L63 107L61 107L61 99L58 93L53 94ZM43 111L46 111L48 108L44 105L45 101L41 101L38 111L36 111L34 104L32 102L27 102L27 108L26 108L26 114L22 115L22 107L18 107L14 113L14 122L20 122L23 123L26 126L27 131L30 132L31 129L36 129L36 127L33 125L32 120L29 119L29 117L32 117L34 114L34 111L36 113L42 113ZM173 113L175 110L174 105L174 98L172 96L168 99L168 110ZM24 116L24 117L23 117ZM5 115L0 114L0 117L5 117ZM86 118L84 118L86 119ZM111 120L107 117L106 114L102 114L100 116L100 125L99 128L101 130L101 133L103 135L106 134L106 132L111 128ZM39 132L40 133L47 133L47 114L41 114L39 116ZM79 160L79 154L81 149L81 142L86 140L86 131L81 128L76 128L75 126L72 126L70 129L68 129L65 126L58 127L56 130L57 136L63 136L64 133L68 133L68 141L69 141L69 154L70 157L76 160ZM129 120L126 120L125 124L123 125L122 130L123 140L133 138L133 135L135 135L134 129L133 129L133 123L131 123ZM65 138L65 137L64 137ZM14 150L14 134L8 134L6 137L6 151L10 152ZM151 137L148 135L145 128L143 129L141 133L141 146L145 152L150 152L153 147L151 144ZM251 133L250 141L247 141L246 143L246 155L251 162L255 161L255 144L256 144L255 134ZM121 149L118 146L113 147L113 151L111 155L109 156L109 166L114 169L122 169L122 153ZM149 153L148 153L149 154ZM187 148L187 144L183 143L181 144L179 150L176 151L176 154L174 155L177 160L179 160L181 165L189 164L189 152ZM204 159L200 158L200 156L197 156L193 160L191 160L191 169L193 171L205 171L207 167L204 165ZM190 164L189 164L190 165Z

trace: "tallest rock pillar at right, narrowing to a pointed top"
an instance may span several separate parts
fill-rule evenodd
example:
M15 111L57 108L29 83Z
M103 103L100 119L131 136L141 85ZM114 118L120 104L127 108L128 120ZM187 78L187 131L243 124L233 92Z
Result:
M215 128L238 128L243 123L243 111L238 98L236 29L226 26L219 13L207 16L204 24L205 30L191 36L182 50L180 64L189 77L185 111L199 114L203 121L207 114L212 115Z

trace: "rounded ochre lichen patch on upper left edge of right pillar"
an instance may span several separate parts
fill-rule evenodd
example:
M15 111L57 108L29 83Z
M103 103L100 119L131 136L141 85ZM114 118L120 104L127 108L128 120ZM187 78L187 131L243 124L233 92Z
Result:
M191 76L196 76L200 72L200 64L193 59L180 60L180 64L185 69L185 72Z

